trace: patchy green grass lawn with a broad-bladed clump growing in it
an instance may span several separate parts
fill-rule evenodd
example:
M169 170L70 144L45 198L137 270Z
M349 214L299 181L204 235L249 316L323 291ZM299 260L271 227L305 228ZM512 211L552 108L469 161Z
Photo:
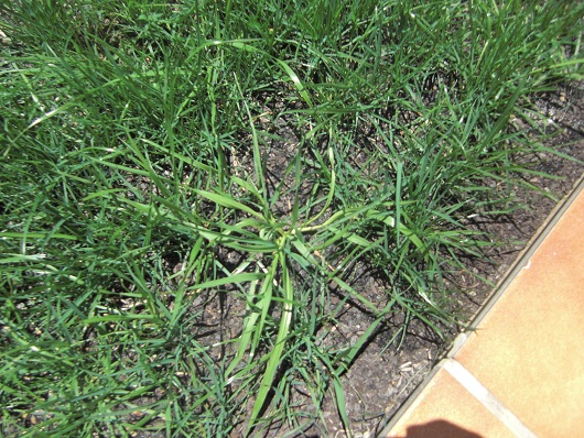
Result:
M388 318L459 322L467 218L550 152L531 101L582 78L583 12L2 2L1 434L293 435L327 394L350 429L340 377ZM347 306L370 324L336 344Z

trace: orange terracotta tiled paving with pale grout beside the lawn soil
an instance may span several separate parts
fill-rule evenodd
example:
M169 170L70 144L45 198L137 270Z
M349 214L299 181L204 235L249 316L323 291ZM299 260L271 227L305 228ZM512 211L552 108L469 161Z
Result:
M381 437L584 437L584 179Z

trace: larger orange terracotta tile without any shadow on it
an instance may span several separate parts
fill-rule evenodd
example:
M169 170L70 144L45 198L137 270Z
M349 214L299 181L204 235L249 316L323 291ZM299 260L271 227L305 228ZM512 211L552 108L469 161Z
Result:
M584 436L584 191L455 358L541 437Z

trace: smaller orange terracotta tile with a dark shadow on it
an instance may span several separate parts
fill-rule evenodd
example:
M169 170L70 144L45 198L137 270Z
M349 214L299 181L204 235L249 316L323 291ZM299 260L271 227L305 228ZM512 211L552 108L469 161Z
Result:
M446 371L439 370L387 437L511 438L513 435Z

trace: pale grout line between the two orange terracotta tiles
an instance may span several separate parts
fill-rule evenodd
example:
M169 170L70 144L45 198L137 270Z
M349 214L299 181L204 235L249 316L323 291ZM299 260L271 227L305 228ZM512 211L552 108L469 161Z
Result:
M495 395L493 395L461 362L455 359L444 359L442 368L446 370L466 391L491 412L516 437L537 438L529 428L509 410Z

